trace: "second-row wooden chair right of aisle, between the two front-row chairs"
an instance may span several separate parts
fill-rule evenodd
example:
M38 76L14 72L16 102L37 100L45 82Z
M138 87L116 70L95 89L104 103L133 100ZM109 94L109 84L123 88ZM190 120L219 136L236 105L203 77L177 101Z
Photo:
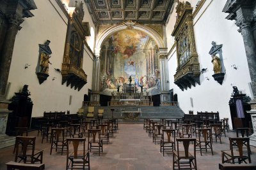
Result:
M211 149L212 152L211 129L198 129L198 139L196 139L196 146L199 147L201 156L202 150L205 150L207 152L207 149Z

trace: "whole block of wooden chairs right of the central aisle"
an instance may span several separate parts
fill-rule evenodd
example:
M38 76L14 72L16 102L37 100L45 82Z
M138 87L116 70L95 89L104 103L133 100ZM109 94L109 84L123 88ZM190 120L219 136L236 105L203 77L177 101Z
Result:
M221 135L225 134L226 127L223 124L210 124L209 126L195 127L196 138L193 138L193 125L192 124L179 124L166 125L163 123L163 119L159 122L150 120L149 118L144 120L143 129L146 129L148 136L153 138L153 142L160 143L160 152L172 152L173 153L173 169L197 169L196 166L196 151L202 150L212 151L212 142L220 140ZM179 121L175 121L177 123ZM181 127L181 129L179 129ZM202 128L200 128L202 127ZM168 129L167 129L168 128ZM225 128L225 129L224 129ZM227 129L228 131L229 129ZM229 138L230 148L229 150L221 151L222 163L251 163L250 158L250 138L244 137L244 134L248 135L248 132L243 132L244 129L237 129L237 138ZM239 137L238 132L241 131L242 137ZM179 138L176 138L178 136ZM212 139L214 138L214 139ZM180 151L180 143L183 144L184 150ZM193 143L194 151L188 152L189 144ZM237 149L237 151L236 151ZM181 163L182 162L182 163Z

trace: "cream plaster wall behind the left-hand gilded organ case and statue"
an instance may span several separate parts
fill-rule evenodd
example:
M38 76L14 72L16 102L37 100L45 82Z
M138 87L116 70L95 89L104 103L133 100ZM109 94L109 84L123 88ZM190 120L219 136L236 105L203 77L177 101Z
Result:
M92 87L93 54L84 46L83 69L88 83L79 92L74 87L67 87L66 83L61 85L61 74L54 68L61 69L68 20L55 0L35 0L35 3L38 8L32 11L35 17L25 19L15 39L8 78L12 83L8 99L27 84L34 104L32 117L40 117L44 111L70 110L70 113L76 113L82 106L84 94ZM49 65L49 77L40 85L36 76L38 44L44 44L47 39L51 41L52 64ZM28 69L24 69L25 64L30 65ZM54 77L55 80L52 80Z

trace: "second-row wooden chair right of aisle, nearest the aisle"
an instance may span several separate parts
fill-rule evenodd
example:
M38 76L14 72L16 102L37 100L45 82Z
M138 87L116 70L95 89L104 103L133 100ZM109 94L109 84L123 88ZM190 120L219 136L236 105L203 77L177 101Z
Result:
M171 138L172 137L172 138ZM160 143L160 152L173 152L175 150L175 130L163 129L163 136Z

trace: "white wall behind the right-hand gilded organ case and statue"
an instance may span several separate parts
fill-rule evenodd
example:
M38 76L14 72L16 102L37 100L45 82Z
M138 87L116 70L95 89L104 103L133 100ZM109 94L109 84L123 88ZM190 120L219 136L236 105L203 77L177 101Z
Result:
M207 68L207 72L200 76L201 85L196 84L196 87L191 87L191 89L182 92L173 83L173 75L177 69L177 55L174 50L170 53L168 66L170 89L178 94L180 108L185 113L188 113L188 110L194 110L194 113L196 111L219 111L221 118L228 117L230 120L228 101L232 94L232 86L237 86L244 94L251 96L248 86L251 80L243 38L237 32L238 27L234 24L234 21L225 19L228 14L222 12L225 2L206 1L194 20L195 24L195 21L199 18L194 29L200 69ZM175 13L172 15L175 15ZM211 55L209 55L212 41L216 41L217 45L223 44L223 62L226 74L222 85L212 77L214 72L212 71ZM169 49L171 45L172 43L168 44ZM236 64L237 70L231 67L233 64ZM205 77L208 77L209 80L206 80ZM193 108L190 104L190 97L193 98ZM229 124L231 125L231 122Z

